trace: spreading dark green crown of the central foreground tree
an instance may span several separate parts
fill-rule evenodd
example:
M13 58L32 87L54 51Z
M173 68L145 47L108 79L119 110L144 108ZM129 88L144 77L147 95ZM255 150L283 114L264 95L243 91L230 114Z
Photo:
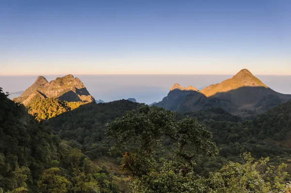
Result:
M178 143L177 154L185 159L192 158L187 149L212 156L218 152L211 141L212 135L197 119L177 121L174 118L174 112L156 106L146 105L128 112L107 125L106 134L114 140L111 150L120 151L130 141L149 154L160 144L162 136L167 136Z

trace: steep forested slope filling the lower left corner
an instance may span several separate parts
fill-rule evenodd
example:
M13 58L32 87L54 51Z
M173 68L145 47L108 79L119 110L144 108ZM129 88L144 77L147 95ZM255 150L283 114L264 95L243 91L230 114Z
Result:
M22 104L14 103L7 96L0 89L0 192L127 191L124 177L99 167L80 149L70 146L52 134L49 127L33 119ZM118 113L116 110L113 114Z

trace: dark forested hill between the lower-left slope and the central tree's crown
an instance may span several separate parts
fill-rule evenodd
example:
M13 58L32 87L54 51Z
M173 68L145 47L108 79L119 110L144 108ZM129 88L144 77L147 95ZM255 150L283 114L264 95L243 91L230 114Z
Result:
M106 143L105 124L141 106L129 100L84 104L45 121L45 125L69 141L71 146L82 149L91 159L97 159L108 155L110 148Z

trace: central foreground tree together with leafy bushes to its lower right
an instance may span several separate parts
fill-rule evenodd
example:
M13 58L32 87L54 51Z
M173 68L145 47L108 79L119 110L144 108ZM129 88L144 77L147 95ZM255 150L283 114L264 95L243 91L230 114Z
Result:
M112 151L125 152L122 169L129 174L134 193L280 193L290 191L286 183L284 163L275 168L269 159L254 162L250 154L243 154L245 163L230 162L209 178L195 174L195 160L199 155L214 157L218 149L211 134L197 119L174 119L172 111L143 106L115 119L107 126L107 134L114 141ZM155 154L171 139L173 158L159 163ZM195 159L196 158L196 159Z

